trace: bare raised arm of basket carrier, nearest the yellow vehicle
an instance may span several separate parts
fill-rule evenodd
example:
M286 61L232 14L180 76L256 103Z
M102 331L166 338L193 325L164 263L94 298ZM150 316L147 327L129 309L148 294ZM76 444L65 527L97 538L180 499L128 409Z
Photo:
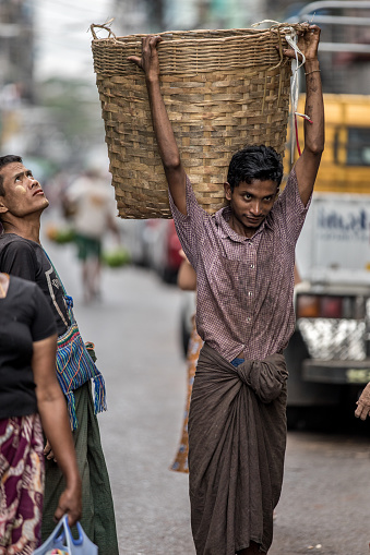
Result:
M324 101L318 60L319 41L320 28L317 25L307 25L298 38L298 47L306 57L305 114L312 121L310 123L305 120L305 148L295 167L299 194L305 206L313 190L325 142ZM285 50L284 55L289 58L295 57L291 49Z

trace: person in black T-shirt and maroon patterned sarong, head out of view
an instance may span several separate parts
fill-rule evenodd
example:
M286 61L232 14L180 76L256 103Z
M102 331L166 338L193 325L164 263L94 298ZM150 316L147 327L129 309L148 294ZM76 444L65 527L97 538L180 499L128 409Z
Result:
M65 486L55 518L81 518L81 476L56 376L57 326L36 283L0 273L0 555L40 543L44 427Z

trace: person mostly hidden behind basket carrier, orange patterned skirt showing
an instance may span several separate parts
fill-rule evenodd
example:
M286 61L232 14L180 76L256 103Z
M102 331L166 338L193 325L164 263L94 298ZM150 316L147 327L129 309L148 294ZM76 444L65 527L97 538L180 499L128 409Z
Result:
M180 251L183 261L179 267L178 276L177 276L177 285L183 291L196 291L196 274L188 258L186 257L183 251ZM180 443L178 446L178 450L172 464L170 466L170 470L176 470L177 472L189 472L188 464L188 453L189 453L189 436L188 436L188 420L189 420L189 408L190 408L190 399L191 391L193 388L193 382L195 376L196 363L199 353L203 347L203 341L201 337L198 335L196 326L195 326L195 314L191 316L191 334L188 345L187 351L187 370L188 370L188 388L187 388L187 401L186 408L183 412L183 423Z

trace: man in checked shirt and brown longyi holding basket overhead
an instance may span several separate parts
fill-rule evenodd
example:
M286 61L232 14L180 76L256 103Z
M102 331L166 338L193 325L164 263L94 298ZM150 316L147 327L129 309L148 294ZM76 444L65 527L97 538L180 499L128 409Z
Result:
M285 190L278 195L276 152L246 147L229 165L228 206L213 216L195 200L160 94L160 37L145 37L142 57L129 58L145 73L174 220L196 272L204 347L189 415L189 488L199 555L267 553L272 543L286 446L283 350L295 326L295 246L324 148L319 39L315 25L299 32L311 122ZM295 57L293 49L283 52Z

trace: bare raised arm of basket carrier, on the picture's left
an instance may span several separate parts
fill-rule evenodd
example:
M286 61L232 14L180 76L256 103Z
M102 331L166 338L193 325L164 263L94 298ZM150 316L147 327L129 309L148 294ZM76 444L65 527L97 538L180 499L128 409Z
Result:
M157 140L159 155L165 169L169 191L177 208L187 214L186 172L181 164L171 123L159 87L158 36L147 36L142 40L142 57L130 56L145 73L147 95L152 112L153 129Z

